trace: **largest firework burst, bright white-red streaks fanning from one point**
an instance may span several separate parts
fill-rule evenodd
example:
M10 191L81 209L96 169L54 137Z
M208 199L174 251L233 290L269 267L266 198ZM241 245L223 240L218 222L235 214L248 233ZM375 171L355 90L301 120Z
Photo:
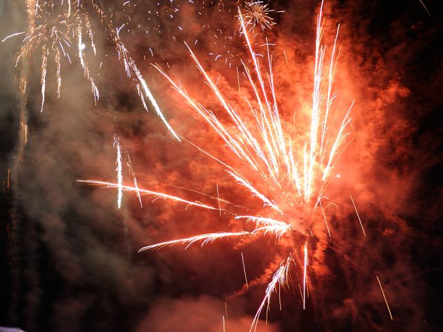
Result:
M279 258L281 255L278 255L275 257L274 263L270 265L270 268L274 268L275 273L271 280L268 280L269 284L266 288L265 297L254 317L251 331L255 331L257 320L266 304L266 313L269 311L272 293L277 289L280 291L281 287L289 286L291 266L302 266L303 279L300 292L302 288L302 302L303 308L305 308L308 286L309 237L314 236L309 235L309 233L313 223L323 220L325 222L325 232L330 236L322 202L327 200L324 192L334 164L345 149L345 143L350 141L347 139L350 135L347 132L347 125L351 121L350 110L353 103L344 112L342 120L336 123L336 116L331 116L331 113L332 104L336 98L336 94L333 92L333 83L339 54L336 49L338 28L330 52L329 65L326 66L326 48L322 44L322 9L323 3L320 7L316 25L311 120L307 128L303 129L307 131L306 137L309 137L308 139L303 136L301 138L293 136L291 134L293 131L287 127L289 124L281 118L274 89L272 57L269 45L266 48L267 64L265 72L257 53L253 49L251 37L248 35L248 24L240 10L238 14L239 23L253 68L249 68L246 62L242 62L242 64L248 82L247 89L251 91L254 98L248 100L246 95L242 96L246 101L246 108L242 111L237 111L230 104L230 101L224 97L224 93L217 86L217 82L214 82L206 72L204 66L188 45L186 46L199 72L204 77L204 82L209 86L219 104L219 108L224 112L224 117L228 120L221 120L220 116L192 98L181 84L174 82L160 66L155 65L179 95L215 131L224 142L227 151L233 154L242 163L242 166L236 167L222 160L222 158L217 158L209 151L210 147L194 146L222 165L234 183L243 187L251 193L253 198L262 203L263 210L260 214L239 214L228 209L221 209L220 205L217 208L199 201L189 201L161 192L125 186L120 180L117 184L95 180L82 181L95 185L117 187L119 197L123 190L136 192L137 194L149 194L154 199L168 199L197 208L219 210L233 215L233 219L237 223L245 221L243 224L244 230L239 232L198 234L184 239L145 246L139 251L176 245L185 245L188 248L192 243L201 243L201 246L203 246L215 240L233 237L256 239L257 237L264 237L266 234L275 237L275 243L280 246L281 252L284 252L282 255L287 255L287 258L281 259ZM251 119L253 119L252 122ZM295 216L294 211L296 211ZM300 248L302 249L300 250ZM296 261L300 264L296 264ZM265 279L266 277L269 277L269 273L264 273L258 279Z

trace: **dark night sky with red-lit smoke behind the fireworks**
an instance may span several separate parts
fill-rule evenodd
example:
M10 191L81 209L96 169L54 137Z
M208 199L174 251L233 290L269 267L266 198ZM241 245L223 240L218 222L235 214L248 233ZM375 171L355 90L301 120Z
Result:
M170 1L131 1L130 7L120 2L99 1L99 6L114 26L126 24L120 36L172 127L197 145L209 146L211 153L230 158L150 63L158 63L197 100L214 107L182 43L186 41L210 75L222 77L219 84L228 98L239 103L235 66L247 54L234 11L244 6L242 1L177 1L173 6ZM357 138L336 164L334 175L341 178L334 176L328 188L341 207L328 214L332 237L326 236L323 219L308 221L316 234L309 242L307 310L300 301L298 264L291 272L293 285L282 291L282 310L273 295L270 324L260 324L257 331L443 329L443 3L425 4L431 16L419 0L325 2L325 42L341 24L336 87L347 91L343 104L355 100ZM293 109L302 110L309 102L319 5L273 1L273 30L254 37L275 44L279 105L289 119ZM239 223L230 221L230 215L185 210L179 203L147 197L141 208L130 193L118 210L115 190L76 182L115 181L117 132L141 187L204 200L172 186L213 195L217 183L226 199L257 209L223 167L174 140L152 109L145 112L107 31L89 10L98 55L88 61L100 100L94 104L74 51L72 64L62 59L60 98L56 68L48 62L41 113L42 55L35 53L27 59L24 147L19 136L24 104L15 68L22 37L0 44L0 326L25 331L223 331L227 312L226 331L248 331L264 295L266 273L273 274L287 246L298 250L301 242L291 239L279 247L272 237L230 239L204 248L138 253L141 246L168 239L237 230ZM0 15L1 39L26 30L21 1L5 1ZM123 176L130 185L126 165ZM241 253L252 285L247 291Z

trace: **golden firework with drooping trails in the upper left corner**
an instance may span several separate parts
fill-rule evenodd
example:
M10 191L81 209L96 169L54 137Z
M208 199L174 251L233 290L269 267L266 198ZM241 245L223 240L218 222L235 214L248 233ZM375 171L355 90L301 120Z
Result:
M91 84L91 92L94 100L97 102L99 91L96 82L93 79L89 65L90 53L96 55L96 45L94 44L94 31L91 26L89 13L97 15L102 26L108 35L111 46L114 47L118 61L125 68L125 73L132 78L136 91L141 98L145 110L148 110L146 99L152 104L152 107L161 118L163 123L172 135L180 140L170 124L166 121L159 105L152 95L147 83L138 69L136 62L129 55L125 44L123 44L118 29L114 28L111 20L107 17L104 10L94 0L89 1L44 1L40 3L35 0L26 0L26 11L28 14L28 32L15 33L3 39L3 42L9 37L26 34L24 45L17 55L16 66L21 68L20 92L26 103L26 64L33 55L41 55L41 111L44 108L46 93L46 73L48 62L51 60L56 67L57 95L60 97L62 88L62 59L66 58L69 63L73 57L78 57L78 62L84 72L84 77ZM87 39L87 40L85 40ZM87 44L90 46L87 46ZM90 49L88 51L88 49ZM22 116L22 118L24 118ZM24 124L26 126L26 124Z

